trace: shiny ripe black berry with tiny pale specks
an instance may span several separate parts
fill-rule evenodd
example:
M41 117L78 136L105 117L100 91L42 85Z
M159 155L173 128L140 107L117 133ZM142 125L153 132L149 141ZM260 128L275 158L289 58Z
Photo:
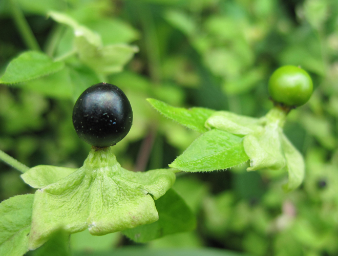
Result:
M73 124L83 141L96 146L113 146L130 131L133 111L117 86L97 83L84 91L73 109Z

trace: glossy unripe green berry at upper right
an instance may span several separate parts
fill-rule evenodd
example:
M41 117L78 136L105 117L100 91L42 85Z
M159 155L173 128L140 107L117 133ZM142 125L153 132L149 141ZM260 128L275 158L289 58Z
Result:
M270 77L269 94L274 102L300 106L311 97L313 84L309 74L295 66L283 66Z

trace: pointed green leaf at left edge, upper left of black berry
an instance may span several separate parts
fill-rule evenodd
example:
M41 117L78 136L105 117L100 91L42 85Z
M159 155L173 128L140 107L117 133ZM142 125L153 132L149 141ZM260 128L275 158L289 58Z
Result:
M25 82L55 73L63 67L63 62L53 61L44 53L24 52L9 63L5 74L0 79L0 83Z

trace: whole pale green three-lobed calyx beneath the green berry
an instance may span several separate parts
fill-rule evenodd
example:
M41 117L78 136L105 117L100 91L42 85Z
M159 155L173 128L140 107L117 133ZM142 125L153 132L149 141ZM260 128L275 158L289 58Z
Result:
M243 136L243 147L250 160L247 170L286 168L286 190L297 188L304 179L304 159L283 133L287 112L277 106L264 117L250 118L226 111L210 116L205 125Z

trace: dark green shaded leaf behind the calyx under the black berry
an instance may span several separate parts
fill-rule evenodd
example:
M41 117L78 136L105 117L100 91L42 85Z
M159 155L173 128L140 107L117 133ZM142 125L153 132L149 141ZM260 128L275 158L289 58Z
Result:
M196 227L192 210L173 189L155 201L158 221L122 231L138 243L145 243L167 234L191 231Z

